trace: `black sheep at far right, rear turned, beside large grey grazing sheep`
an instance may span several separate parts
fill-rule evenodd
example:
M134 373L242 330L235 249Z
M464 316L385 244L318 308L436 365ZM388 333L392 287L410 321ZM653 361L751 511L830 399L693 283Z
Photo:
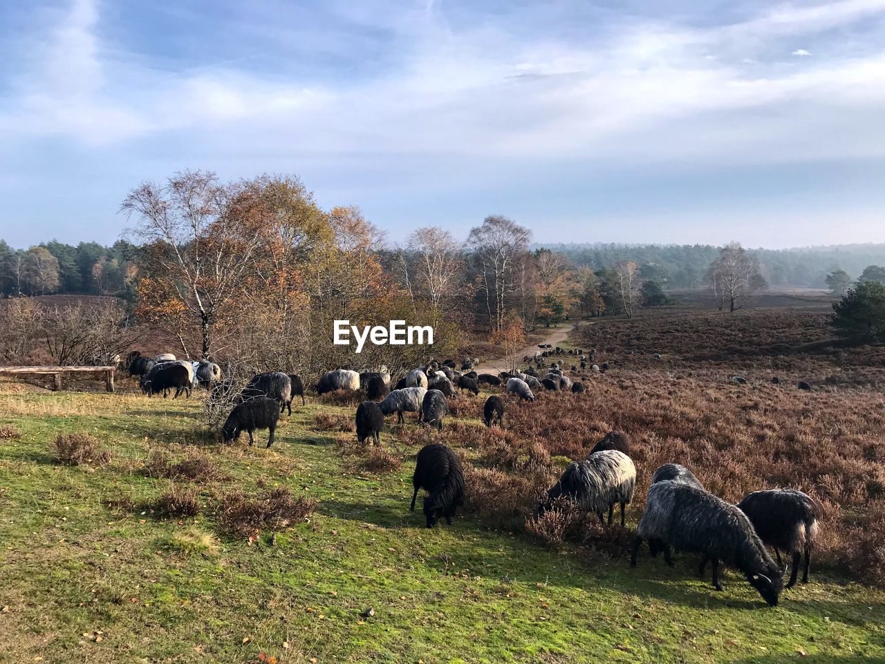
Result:
M805 554L802 583L808 583L820 519L820 506L811 496L795 489L753 491L737 506L750 519L759 539L774 548L778 565L781 565L781 549L793 554L793 568L786 587L792 588L796 583L802 552Z

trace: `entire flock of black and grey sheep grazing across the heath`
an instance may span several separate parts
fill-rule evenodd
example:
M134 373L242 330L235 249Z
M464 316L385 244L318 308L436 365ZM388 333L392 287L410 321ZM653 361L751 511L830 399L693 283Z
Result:
M366 401L358 405L356 429L358 441L380 442L384 428L384 416L396 413L404 422L404 413L417 413L417 421L428 427L443 429L443 419L449 413L447 398L456 390L474 395L480 385L500 387L520 399L534 401L533 389L584 391L581 382L573 382L563 372L562 359L550 362L550 355L565 355L562 349L542 347L529 363L525 373L477 374L473 371L476 360L465 359L461 370L456 370L453 360L442 364L431 362L405 374L391 389L391 378L386 367L374 372L358 373L350 369L337 369L319 378L315 389L318 395L337 390L364 390ZM568 351L575 356L577 369L587 367L593 351L585 356L582 351ZM210 362L177 360L171 354L156 359L146 359L130 354L127 359L130 373L140 375L142 390L148 394L175 390L175 396L187 392L196 385L215 387L213 390L228 392L230 382L221 382L218 365ZM534 363L534 367L531 366ZM604 373L606 364L593 365L593 371ZM545 371L539 374L539 369ZM296 374L268 372L254 376L234 400L234 407L222 427L226 443L236 440L242 431L249 435L258 429L269 431L267 447L273 444L273 435L280 414L287 408L291 414L292 399L304 398L304 382ZM483 406L483 421L487 427L504 427L504 401L491 395ZM414 493L412 506L420 489L427 490L424 498L424 514L427 528L433 528L442 518L451 523L458 506L463 505L465 479L458 456L444 444L428 444L418 453L413 475ZM612 524L614 507L620 505L620 523L625 526L625 509L634 495L636 469L629 457L627 436L612 431L600 440L586 459L574 461L566 467L558 482L547 491L538 506L536 516L556 509L560 501L570 500L579 510L594 513L604 523L608 511L608 524ZM636 554L644 542L648 542L652 556L664 553L666 563L673 566L671 548L681 552L700 554L699 575L704 575L708 562L712 564L712 585L721 591L720 563L741 571L747 581L771 606L776 606L787 565L781 560L781 552L792 556L792 570L786 587L797 581L798 568L804 554L803 583L808 581L811 552L818 530L819 506L798 490L775 489L750 493L738 505L731 505L704 489L702 483L686 467L666 464L652 475L648 498L633 544L630 565L635 567ZM773 547L777 562L766 546Z

